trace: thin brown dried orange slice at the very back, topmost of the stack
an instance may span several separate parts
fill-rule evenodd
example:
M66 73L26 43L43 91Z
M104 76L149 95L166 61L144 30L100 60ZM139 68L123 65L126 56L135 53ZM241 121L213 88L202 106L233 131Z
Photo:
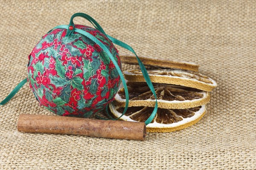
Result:
M182 70L198 71L199 65L193 62L185 62L170 59L153 59L148 57L139 57L144 65L151 65L161 68L177 68ZM138 64L137 58L135 56L123 55L120 59L124 63Z

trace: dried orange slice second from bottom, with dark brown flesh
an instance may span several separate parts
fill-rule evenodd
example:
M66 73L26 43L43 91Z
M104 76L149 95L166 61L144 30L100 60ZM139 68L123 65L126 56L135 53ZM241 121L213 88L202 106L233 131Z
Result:
M127 82L129 107L154 107L155 97L146 82ZM210 100L209 92L180 85L153 83L159 108L185 109L205 105ZM125 90L120 86L115 96L117 105L125 107Z

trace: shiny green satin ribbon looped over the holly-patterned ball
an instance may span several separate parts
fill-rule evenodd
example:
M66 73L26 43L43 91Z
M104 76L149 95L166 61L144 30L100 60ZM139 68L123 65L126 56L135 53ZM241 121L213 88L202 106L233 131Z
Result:
M120 76L120 78L121 78L121 80L122 80L123 87L124 87L124 89L125 89L125 101L126 101L126 102L125 102L125 109L124 109L122 115L119 116L119 118L122 117L122 116L125 114L125 112L126 112L127 109L128 109L128 104L129 104L128 88L127 88L127 85L126 85L126 82L125 82L125 78L123 77L122 71L121 71L121 69L119 68L118 63L117 63L116 60L114 59L114 57L113 57L113 55L111 54L111 52L108 50L108 48L107 48L101 41L99 41L96 37L94 37L94 36L91 35L90 33L86 32L86 31L84 31L84 30L75 28L75 25L74 25L74 23L73 23L73 18L74 18L74 17L84 17L84 18L87 19L97 30L99 30L100 32L102 32L102 34L105 34L113 43L115 43L116 45L119 45L119 46L121 46L121 47L123 47L123 48L125 48L125 49L127 49L127 50L129 50L129 51L131 51L133 54L135 54L135 56L136 56L136 58L137 58L137 60L138 60L138 63L139 63L139 65L140 65L140 69L141 69L141 71L142 71L142 73L143 73L143 77L145 78L145 81L147 82L148 87L150 88L150 90L152 91L152 93L153 93L153 95L154 95L154 97L155 97L155 99L156 99L156 103L155 103L154 110L153 110L153 112L151 113L151 116L149 116L148 119L145 121L145 125L148 125L148 124L154 119L154 116L155 116L156 113L157 113L157 95L156 95L156 93L155 93L155 91L154 91L154 86L152 85L152 82L151 82L151 80L150 80L150 78L149 78L149 76L148 76L148 72L147 72L147 70L145 69L145 67L144 67L143 63L141 62L140 58L139 58L139 57L137 56L137 54L135 53L134 49L131 48L131 46L125 44L124 42L119 41L119 40L116 40L115 38L113 38L113 37L107 35L107 34L105 33L105 31L102 29L102 27L99 25L99 23L96 22L96 20L94 20L92 17L90 17L89 15L84 14L84 13L76 13L76 14L73 14L73 16L72 16L71 19L70 19L70 24L69 24L69 25L61 25L61 26L56 26L55 28L53 28L53 29L56 29L56 28L64 28L64 29L67 29L67 35L66 35L66 36L70 36L71 34L73 34L73 32L77 32L77 33L79 33L79 34L82 34L82 35L88 37L90 40L92 40L93 42L95 42L96 44L98 44L98 45L102 48L102 50L105 51L105 53L108 55L108 57L111 59L111 61L113 62L113 64L114 64L115 67L116 67L116 70L117 70L117 72L118 72L118 74L119 74L119 76ZM72 29L72 30L69 29L70 26L73 26L73 29ZM51 30L50 30L50 31L51 31ZM6 102L8 102L10 99L12 99L12 97L17 93L17 91L20 90L20 88L21 88L26 82L27 82L27 79L24 79L22 82L20 82L20 84L17 85L17 87L6 97L6 99L4 99L4 100L0 103L0 105L4 105L4 104L6 104ZM106 108L106 111L107 111L107 113L108 113L108 108ZM110 116L109 113L108 113L108 116ZM110 117L111 117L111 116L110 116ZM119 119L119 118L116 118L116 119L114 119L114 120L117 120L117 119ZM103 119L103 118L102 118L102 119ZM111 119L113 119L113 118L111 117Z

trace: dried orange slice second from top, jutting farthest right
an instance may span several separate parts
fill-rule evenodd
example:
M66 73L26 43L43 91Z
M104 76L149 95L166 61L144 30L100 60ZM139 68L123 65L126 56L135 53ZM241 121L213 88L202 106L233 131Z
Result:
M217 87L217 83L200 73L177 69L147 69L151 82L167 83L173 85L183 85L197 88L203 91L212 91ZM125 79L132 82L145 82L143 74L139 69L124 71Z

